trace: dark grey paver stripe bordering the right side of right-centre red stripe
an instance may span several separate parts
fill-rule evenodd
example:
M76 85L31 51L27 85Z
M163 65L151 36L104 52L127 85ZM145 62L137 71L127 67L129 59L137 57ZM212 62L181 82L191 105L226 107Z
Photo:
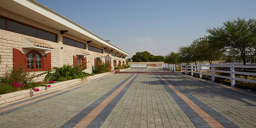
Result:
M227 128L239 128L236 124L225 118L224 116L220 115L218 112L210 108L209 106L205 105L202 101L198 100L196 97L191 95L190 93L184 91L180 88L177 84L174 84L171 80L168 79L168 77L161 75L166 81L168 81L172 86L174 86L177 90L179 90L181 93L183 93L186 97L188 97L190 100L192 100L196 105L198 105L200 108L202 108L205 112L207 112L210 116L215 118L220 124Z

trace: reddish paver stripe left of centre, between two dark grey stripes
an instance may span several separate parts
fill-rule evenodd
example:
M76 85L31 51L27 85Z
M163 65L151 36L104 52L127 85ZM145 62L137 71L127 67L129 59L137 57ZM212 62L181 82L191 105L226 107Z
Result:
M116 95L121 92L124 87L135 77L134 74L130 79L128 79L123 85L121 85L115 92L113 92L108 98L103 100L97 107L95 107L87 116L85 116L80 122L78 122L73 128L86 128L95 118L100 114L100 112L116 97Z

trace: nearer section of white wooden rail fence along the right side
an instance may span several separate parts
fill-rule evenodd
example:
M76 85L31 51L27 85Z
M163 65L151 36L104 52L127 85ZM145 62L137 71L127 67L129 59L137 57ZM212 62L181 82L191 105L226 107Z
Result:
M235 87L235 84L236 84L235 80L256 84L255 80L248 80L248 79L242 79L242 78L235 77L235 74L256 76L256 73L235 71L235 68L255 68L255 70L256 70L256 66L254 66L254 65L234 65L234 64L228 64L228 65L189 64L189 65L186 65L186 64L180 64L180 67L181 67L180 73L182 73L182 71L185 71L185 74L187 75L188 72L191 72L191 76L193 76L194 73L197 73L197 74L199 74L199 78L202 78L202 75L212 76L212 82L214 82L214 77L230 79L232 87ZM190 67L190 68L188 68L188 67ZM211 69L209 67L211 67ZM229 71L215 70L215 67L225 67L225 68L229 68L230 70ZM196 72L196 70L198 70L199 72ZM211 71L211 74L202 73L202 71ZM215 75L214 72L229 73L230 76Z

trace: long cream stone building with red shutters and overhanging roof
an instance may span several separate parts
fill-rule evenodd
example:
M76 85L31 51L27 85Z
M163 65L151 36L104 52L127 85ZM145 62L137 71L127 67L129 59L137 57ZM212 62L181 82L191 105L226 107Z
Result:
M129 56L34 0L0 1L0 55L0 76L20 63L36 75L63 64L87 62L85 72L91 73L96 58L114 67Z

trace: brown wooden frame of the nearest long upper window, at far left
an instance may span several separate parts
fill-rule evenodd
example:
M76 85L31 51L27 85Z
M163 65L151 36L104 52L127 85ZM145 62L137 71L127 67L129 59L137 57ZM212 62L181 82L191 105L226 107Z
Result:
M23 22L20 22L20 21L17 21L17 20L13 20L13 19L7 18L7 17L2 16L2 15L0 15L0 17L5 18L5 30L6 30L6 31L8 31L7 20L10 20L10 21L12 21L12 22L15 22L15 23L18 23L18 24L21 24L21 25L25 25L25 26L28 26L28 27L31 27L31 28L35 28L35 29L36 29L36 37L35 37L35 38L38 38L38 29L41 30L41 31L44 31L44 32L51 33L51 34L55 35L55 43L58 43L58 35L57 35L56 33L52 33L52 32L49 32L49 31L47 31L47 30L44 30L44 29L41 29L41 28L37 28L37 27L31 26L31 25L28 25L28 24L26 24L26 23L23 23ZM11 32L11 31L10 31L10 32ZM22 35L24 35L24 34L22 34ZM26 35L26 36L28 36L28 35ZM33 37L33 36L31 36L31 37ZM38 39L40 39L40 38L38 38ZM42 39L42 40L44 40L44 39ZM49 40L47 40L47 41L49 41ZM51 42L52 42L52 41L51 41Z

